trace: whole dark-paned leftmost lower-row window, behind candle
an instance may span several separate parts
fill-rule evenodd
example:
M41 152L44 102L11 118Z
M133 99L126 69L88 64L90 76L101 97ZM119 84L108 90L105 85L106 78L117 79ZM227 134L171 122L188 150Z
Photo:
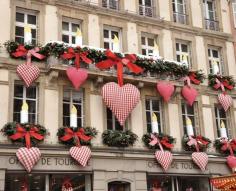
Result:
M30 86L26 88L24 85L14 85L14 103L13 103L13 121L20 121L20 111L23 102L28 104L28 121L29 123L38 122L38 88Z

